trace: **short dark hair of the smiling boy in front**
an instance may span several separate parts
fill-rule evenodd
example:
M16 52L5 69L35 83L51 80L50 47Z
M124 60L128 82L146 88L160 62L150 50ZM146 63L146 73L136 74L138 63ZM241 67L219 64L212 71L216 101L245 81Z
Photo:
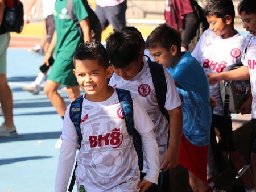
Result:
M76 60L98 60L99 64L105 69L109 67L109 57L105 47L97 41L88 41L79 45L73 56L75 65Z

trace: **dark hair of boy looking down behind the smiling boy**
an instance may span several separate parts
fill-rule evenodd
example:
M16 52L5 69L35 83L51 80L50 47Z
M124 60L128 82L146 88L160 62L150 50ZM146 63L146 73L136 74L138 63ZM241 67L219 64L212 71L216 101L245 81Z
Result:
M116 68L125 68L137 61L142 45L141 36L133 30L114 30L106 39L109 60Z

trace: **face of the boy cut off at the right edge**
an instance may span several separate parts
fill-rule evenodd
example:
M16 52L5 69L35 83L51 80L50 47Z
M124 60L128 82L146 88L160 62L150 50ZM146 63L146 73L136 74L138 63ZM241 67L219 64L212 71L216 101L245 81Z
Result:
M242 11L240 17L243 21L243 28L256 36L256 14L246 14L245 11Z

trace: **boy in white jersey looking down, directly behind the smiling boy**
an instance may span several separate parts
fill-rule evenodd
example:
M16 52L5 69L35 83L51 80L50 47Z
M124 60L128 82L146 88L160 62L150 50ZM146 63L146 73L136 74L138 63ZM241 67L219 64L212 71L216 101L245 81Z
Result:
M138 96L154 122L154 132L158 142L160 169L169 170L177 166L183 131L183 115L181 102L177 94L174 80L164 69L167 93L164 108L168 111L170 122L161 114L156 99L155 87L148 62L144 60L144 40L137 31L115 30L106 40L106 49L113 66L113 76L109 85L127 89ZM158 64L157 64L158 65ZM164 84L164 82L163 82ZM170 130L170 145L167 149L168 131ZM149 166L144 164L141 176L144 176ZM148 174L148 173L147 173ZM170 191L168 172L163 173L162 191ZM159 183L160 183L159 176ZM147 191L157 191L157 185L152 185Z

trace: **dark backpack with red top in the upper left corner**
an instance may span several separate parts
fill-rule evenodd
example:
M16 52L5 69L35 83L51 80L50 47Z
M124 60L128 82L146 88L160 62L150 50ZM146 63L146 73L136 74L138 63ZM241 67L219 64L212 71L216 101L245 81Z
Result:
M7 32L22 32L24 25L23 4L19 0L5 0L3 27Z

